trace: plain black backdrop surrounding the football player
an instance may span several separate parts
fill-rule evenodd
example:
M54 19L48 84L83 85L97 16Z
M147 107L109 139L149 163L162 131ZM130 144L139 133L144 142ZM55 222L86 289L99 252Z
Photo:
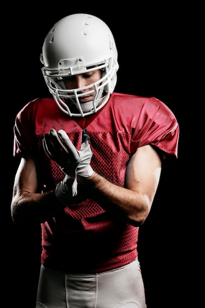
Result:
M65 2L66 3L66 2ZM118 49L118 80L115 92L155 96L176 115L180 127L178 160L163 170L149 216L139 231L139 259L145 281L147 308L185 307L189 294L187 258L188 180L184 175L187 153L187 105L190 104L190 61L187 51L194 44L192 21L184 8L144 2L18 5L5 10L4 96L2 123L6 171L2 187L2 270L5 307L34 308L40 266L40 228L19 227L10 217L10 201L18 159L13 157L13 124L17 112L36 97L48 95L39 56L50 28L64 16L85 12L104 20L113 31ZM9 5L7 5L9 6ZM121 6L121 7L120 7ZM186 12L186 14L185 14ZM5 94L5 92L4 92ZM4 118L5 116L5 118ZM188 147L189 148L189 147ZM187 155L186 155L187 156ZM4 165L4 163L3 163ZM3 168L3 166L2 166ZM186 183L187 181L187 183ZM186 184L185 184L186 183ZM4 292L3 292L4 293ZM8 295L9 294L9 295ZM191 307L191 306L190 306Z

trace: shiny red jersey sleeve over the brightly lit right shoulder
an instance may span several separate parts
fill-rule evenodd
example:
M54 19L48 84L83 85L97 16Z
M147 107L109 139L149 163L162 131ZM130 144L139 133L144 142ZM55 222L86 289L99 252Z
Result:
M164 164L177 158L179 125L173 112L160 100L148 98L142 107L132 136L132 152L150 144L161 154Z

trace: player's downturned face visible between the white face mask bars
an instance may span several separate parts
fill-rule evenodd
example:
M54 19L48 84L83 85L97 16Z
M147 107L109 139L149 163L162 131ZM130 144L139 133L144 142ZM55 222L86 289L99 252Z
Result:
M68 90L79 89L97 82L101 79L101 77L102 71L100 69L96 69L84 74L63 77L63 83ZM93 100L95 92L86 95L86 92L89 92L90 90L94 90L94 87L78 92L85 93L84 96L79 97L80 103L87 103Z

